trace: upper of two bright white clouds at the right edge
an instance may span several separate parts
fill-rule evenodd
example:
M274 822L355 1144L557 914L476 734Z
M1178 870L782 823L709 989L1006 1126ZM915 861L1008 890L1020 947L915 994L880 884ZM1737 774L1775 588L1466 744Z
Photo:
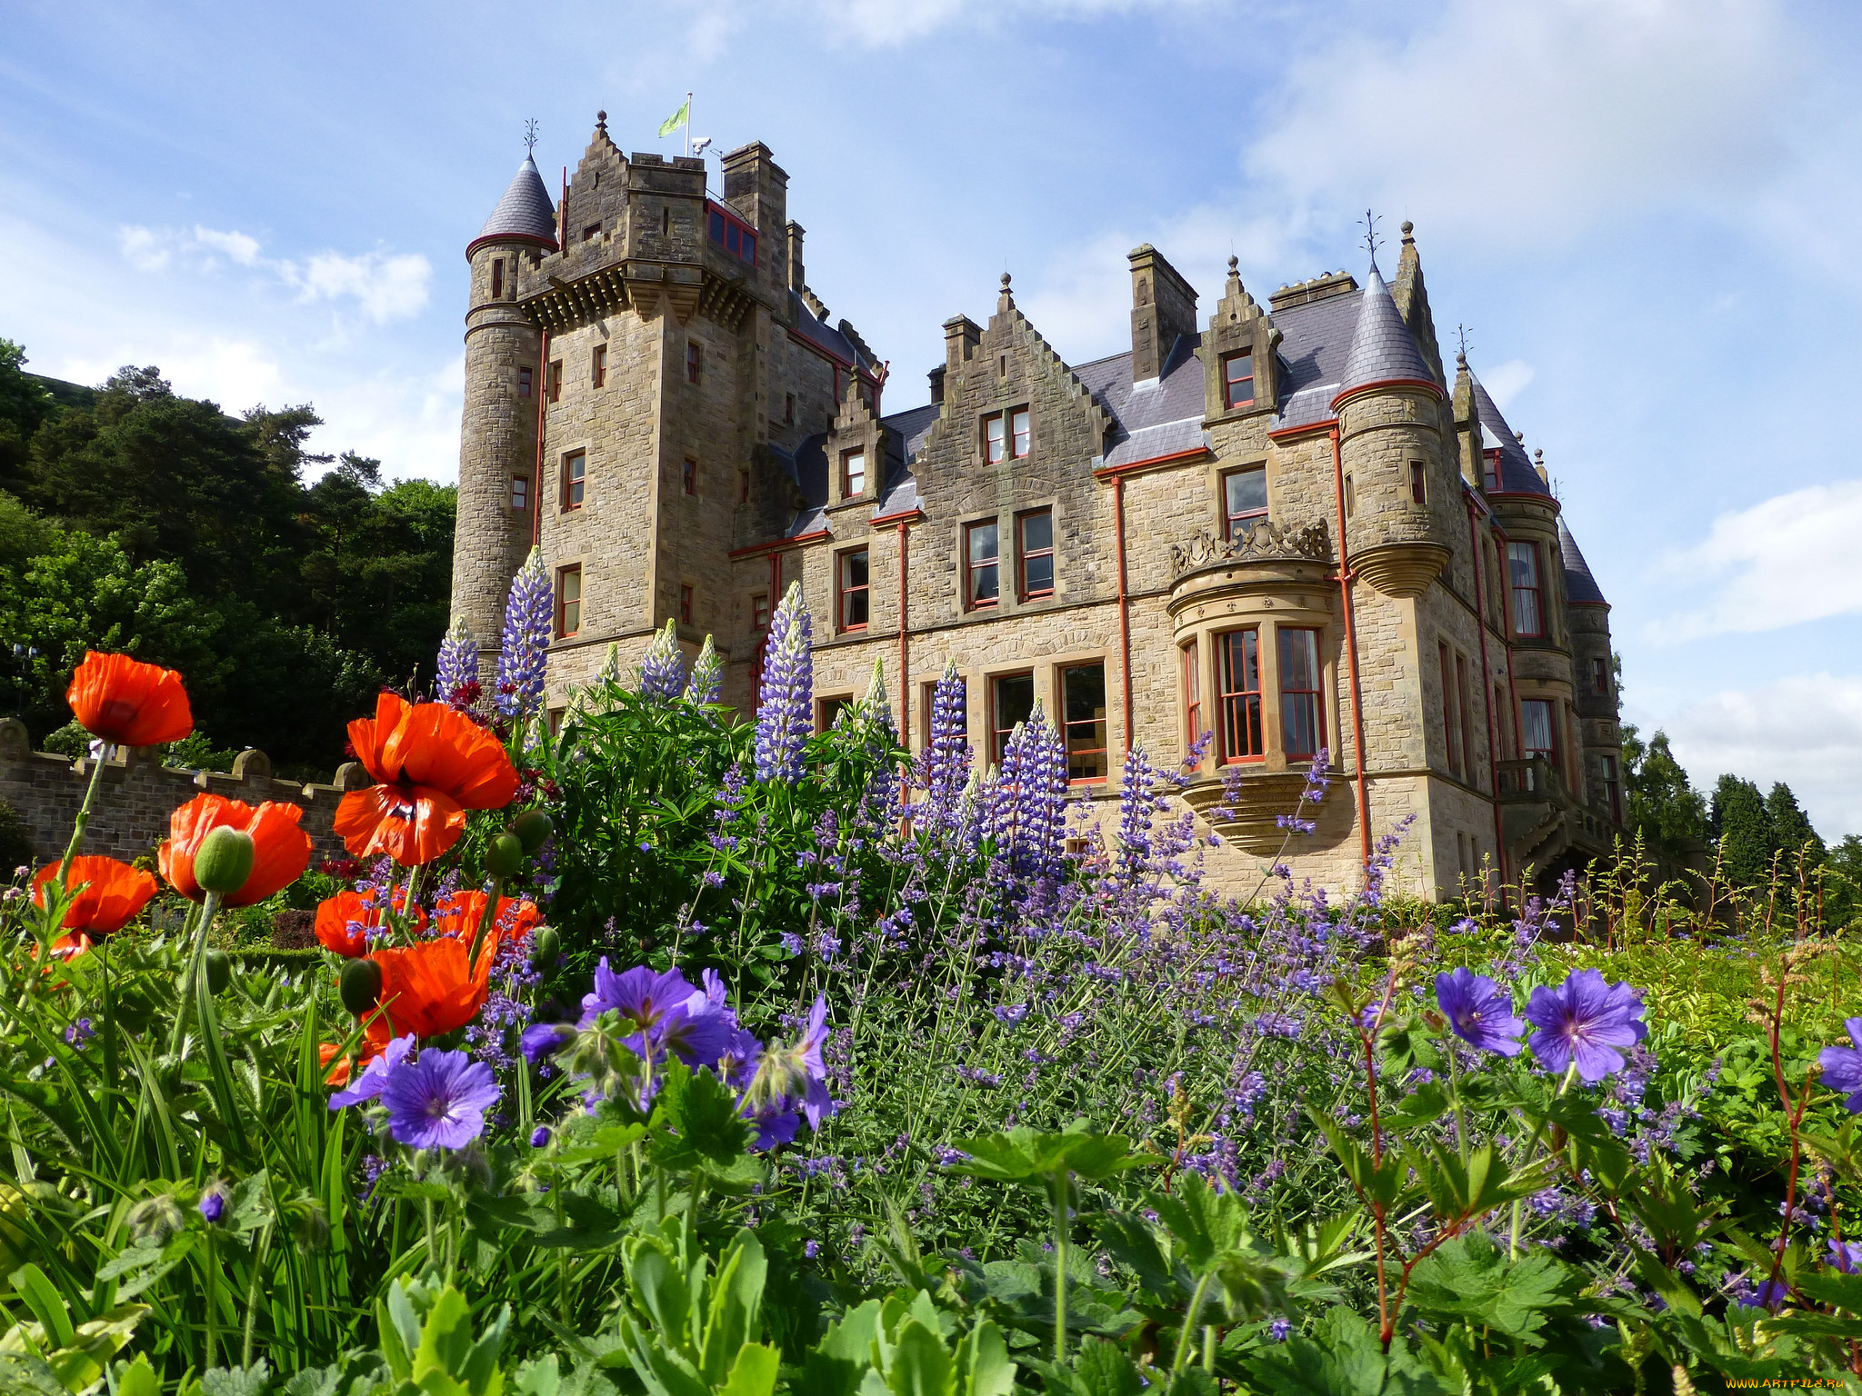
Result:
M1655 642L1773 631L1862 612L1862 480L1774 495L1720 514L1704 542L1668 553L1659 571L1706 590L1698 607L1650 627Z

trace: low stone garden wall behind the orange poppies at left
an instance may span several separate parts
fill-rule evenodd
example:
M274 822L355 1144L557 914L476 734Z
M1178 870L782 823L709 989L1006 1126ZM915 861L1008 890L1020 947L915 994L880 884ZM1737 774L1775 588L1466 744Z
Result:
M63 854L89 784L89 758L73 761L67 756L35 752L28 745L22 722L0 720L0 800L13 806L26 821L37 862ZM84 851L123 862L153 854L155 845L168 838L168 817L196 795L212 791L246 804L264 800L296 804L304 810L298 826L311 836L313 866L324 858L346 858L331 821L343 793L369 784L372 784L369 772L354 761L337 771L333 785L300 785L276 780L264 752L240 752L233 761L233 772L222 774L164 767L153 746L117 748L115 756L104 758ZM6 869L6 875L11 871Z

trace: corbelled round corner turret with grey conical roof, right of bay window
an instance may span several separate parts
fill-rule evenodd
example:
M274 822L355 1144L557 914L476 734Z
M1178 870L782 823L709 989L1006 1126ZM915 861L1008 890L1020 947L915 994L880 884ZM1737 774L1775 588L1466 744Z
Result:
M1458 490L1441 443L1441 385L1370 262L1339 413L1352 568L1383 596L1421 596L1449 560Z

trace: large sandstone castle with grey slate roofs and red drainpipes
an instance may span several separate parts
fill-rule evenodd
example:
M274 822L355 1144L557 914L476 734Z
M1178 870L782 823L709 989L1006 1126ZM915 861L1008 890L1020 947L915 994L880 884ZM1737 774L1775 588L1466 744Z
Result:
M1408 223L1396 274L1331 272L1262 307L1229 259L1199 316L1130 253L1130 352L1069 365L1002 277L944 322L929 404L808 287L762 143L626 156L598 119L551 203L533 160L466 248L452 614L499 635L533 545L555 579L549 704L611 646L717 637L754 709L771 607L801 583L821 724L879 659L905 741L948 663L987 758L1035 704L1076 789L1113 797L1210 733L1186 800L1244 884L1303 771L1337 787L1298 875L1361 879L1406 815L1406 890L1540 886L1620 828L1609 605L1544 465L1443 367ZM1223 772L1240 800L1223 800Z

